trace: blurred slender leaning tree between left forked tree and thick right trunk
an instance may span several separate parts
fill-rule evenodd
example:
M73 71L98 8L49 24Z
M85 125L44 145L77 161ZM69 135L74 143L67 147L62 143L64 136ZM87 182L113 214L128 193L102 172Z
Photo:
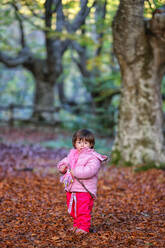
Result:
M87 36L90 32L92 49L87 41L83 42L83 44L81 44L81 39L80 42L72 41L72 47L78 55L73 55L73 61L80 70L87 91L91 94L91 109L98 117L98 123L102 125L102 128L108 127L109 125L113 128L115 125L113 116L111 116L111 119L107 118L106 110L109 108L113 97L120 94L119 88L113 88L113 86L110 88L109 83L104 83L104 81L110 81L107 79L107 74L110 77L113 73L112 65L110 65L110 63L110 66L105 65L105 57L110 60L110 56L108 55L110 43L107 41L107 37L108 39L111 37L107 25L107 15L110 4L108 0L97 0L93 19L90 17L90 20L93 20L91 30L88 31L89 20L87 19L85 20L85 28L84 26L81 28L82 36ZM106 70L103 69L105 67ZM104 78L104 74L106 74L106 79ZM108 86L107 88L105 84ZM113 115L113 113L111 113L111 115Z

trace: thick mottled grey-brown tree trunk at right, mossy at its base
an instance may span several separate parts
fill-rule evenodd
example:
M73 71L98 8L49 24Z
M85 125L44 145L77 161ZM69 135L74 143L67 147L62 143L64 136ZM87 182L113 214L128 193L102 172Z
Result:
M113 22L122 89L112 157L115 162L135 166L165 162L161 98L165 18L162 12L145 24L143 8L144 1L121 0ZM162 26L156 26L160 19L164 20Z

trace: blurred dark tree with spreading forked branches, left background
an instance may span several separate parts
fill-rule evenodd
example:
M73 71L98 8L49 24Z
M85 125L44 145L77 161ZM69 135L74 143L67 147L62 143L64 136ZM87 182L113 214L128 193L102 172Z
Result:
M39 16L37 8L32 8L28 0L20 3L11 0L9 4L14 8L19 24L21 49L15 57L1 51L0 62L4 63L7 67L22 65L33 74L36 85L33 117L40 120L52 119L52 114L41 113L39 109L53 108L54 86L63 71L62 58L70 43L68 37L69 35L73 35L84 23L92 6L88 7L88 0L81 0L80 10L74 19L70 21L64 14L62 0L46 0L43 6L43 16ZM21 4L25 4L29 8L33 17L44 21L42 31L45 37L45 58L38 58L37 54L32 53L27 44L24 21L28 21L33 25L33 19L30 20L30 18L22 14L20 9ZM39 2L35 1L34 4L38 6Z

